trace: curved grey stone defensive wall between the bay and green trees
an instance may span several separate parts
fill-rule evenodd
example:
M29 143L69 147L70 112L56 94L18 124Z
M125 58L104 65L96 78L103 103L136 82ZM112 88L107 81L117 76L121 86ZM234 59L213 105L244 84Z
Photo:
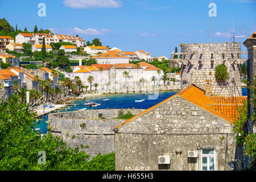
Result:
M114 152L114 127L126 121L115 119L121 109L68 111L48 115L52 134L60 136L68 147L84 150L92 159L97 154ZM137 115L143 109L122 109ZM89 146L86 148L85 146Z

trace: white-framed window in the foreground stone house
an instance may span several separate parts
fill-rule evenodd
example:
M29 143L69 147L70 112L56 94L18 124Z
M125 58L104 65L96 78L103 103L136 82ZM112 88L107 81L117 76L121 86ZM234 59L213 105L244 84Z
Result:
M202 171L215 170L215 150L203 149L202 150Z

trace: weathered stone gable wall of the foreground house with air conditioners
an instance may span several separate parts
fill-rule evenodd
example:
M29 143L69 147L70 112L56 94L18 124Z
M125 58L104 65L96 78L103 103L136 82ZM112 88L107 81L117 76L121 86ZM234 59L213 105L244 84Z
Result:
M200 171L202 149L215 150L214 170L231 170L236 148L232 124L174 96L115 130L116 170L159 170L158 156L170 156L166 170ZM198 158L188 158L188 151Z

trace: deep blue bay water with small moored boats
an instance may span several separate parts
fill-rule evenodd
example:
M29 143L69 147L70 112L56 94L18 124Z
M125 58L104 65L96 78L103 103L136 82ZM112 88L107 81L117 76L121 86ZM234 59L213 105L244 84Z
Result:
M86 97L86 100L90 100L93 102L96 102L98 104L101 104L98 107L94 107L93 109L132 109L133 107L135 109L148 109L149 107L152 107L159 102L162 102L166 100L167 98L173 96L177 92L159 92L159 96L156 100L148 100L148 96L152 96L152 93L133 93L133 94L105 94L102 96L90 96ZM247 89L242 89L242 95L247 96ZM103 101L104 99L109 98L108 101ZM143 102L135 102L135 100L145 100ZM70 105L70 109L61 109L61 111L75 111L78 109L87 108L88 110L91 109L89 106L83 106L82 103L84 101L82 100L75 100L71 101L72 104L77 105ZM55 113L56 111L53 111ZM44 115L43 117L40 117L40 123L38 128L40 128L43 133L47 133L47 123L48 120L48 114Z

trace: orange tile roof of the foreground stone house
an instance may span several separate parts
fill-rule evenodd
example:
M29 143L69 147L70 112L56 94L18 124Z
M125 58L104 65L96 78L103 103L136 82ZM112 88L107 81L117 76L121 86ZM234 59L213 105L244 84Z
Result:
M213 113L217 115L218 117L221 117L225 119L226 121L233 123L233 115L237 114L237 108L235 104L220 104L214 100L212 100L210 97L205 95L205 91L198 88L196 85L188 86L186 89L181 90L179 93L176 93L174 96L167 98L166 100L159 102L155 106L150 107L149 109L144 110L142 113L139 113L138 115L135 115L133 118L128 119L127 121L121 123L120 125L116 126L115 128L124 125L127 122L130 122L131 120L138 118L140 115L147 113L148 111L154 109L156 106L159 106L161 104L164 104L165 102L169 101L171 98L180 96L184 98L185 100L188 100L189 102L192 102L193 104L200 106L201 108L210 111L210 113ZM225 96L219 96L219 97L225 97ZM247 97L244 97L244 99L247 99ZM238 100L240 100L240 97L238 97Z

